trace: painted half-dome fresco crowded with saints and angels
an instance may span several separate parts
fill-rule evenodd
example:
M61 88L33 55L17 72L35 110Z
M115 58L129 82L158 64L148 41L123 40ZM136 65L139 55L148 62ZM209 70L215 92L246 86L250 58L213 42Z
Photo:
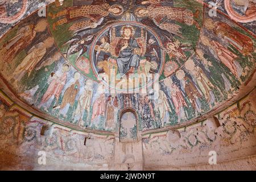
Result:
M231 18L192 0L53 2L2 36L1 80L27 110L79 130L115 131L126 109L134 133L189 125L255 70L255 29L241 26L255 9L225 5Z

